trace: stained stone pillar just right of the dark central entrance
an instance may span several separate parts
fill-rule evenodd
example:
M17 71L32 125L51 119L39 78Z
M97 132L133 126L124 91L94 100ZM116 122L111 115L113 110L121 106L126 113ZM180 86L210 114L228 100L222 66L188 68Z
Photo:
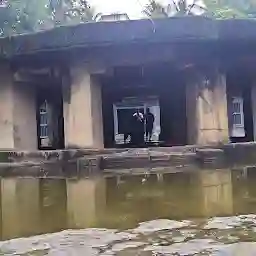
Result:
M226 78L191 76L186 86L188 144L219 144L229 141Z

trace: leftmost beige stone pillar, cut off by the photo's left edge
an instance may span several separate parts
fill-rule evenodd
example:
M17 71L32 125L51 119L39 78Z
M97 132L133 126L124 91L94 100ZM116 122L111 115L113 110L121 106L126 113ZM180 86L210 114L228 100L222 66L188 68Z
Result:
M8 65L0 64L0 149L36 150L35 88L15 83Z

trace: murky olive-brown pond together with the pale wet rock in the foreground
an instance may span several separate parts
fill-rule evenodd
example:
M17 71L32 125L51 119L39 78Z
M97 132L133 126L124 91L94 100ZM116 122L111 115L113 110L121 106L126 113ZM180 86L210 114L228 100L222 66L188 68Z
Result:
M256 169L0 182L0 255L256 255Z

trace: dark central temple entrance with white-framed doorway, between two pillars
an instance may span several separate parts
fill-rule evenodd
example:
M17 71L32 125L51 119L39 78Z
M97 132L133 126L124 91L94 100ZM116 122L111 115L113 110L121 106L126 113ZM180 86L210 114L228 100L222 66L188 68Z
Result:
M136 110L153 115L149 141L144 120L143 147L187 144L186 84L184 73L170 64L117 68L102 78L104 145L132 145L129 129ZM127 135L128 134L128 135Z

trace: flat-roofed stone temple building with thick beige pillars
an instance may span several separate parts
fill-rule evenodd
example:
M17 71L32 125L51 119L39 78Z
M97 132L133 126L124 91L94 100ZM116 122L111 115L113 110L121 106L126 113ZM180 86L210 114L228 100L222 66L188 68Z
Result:
M254 141L255 64L253 20L95 22L2 38L0 149L118 147L146 108L156 145Z

